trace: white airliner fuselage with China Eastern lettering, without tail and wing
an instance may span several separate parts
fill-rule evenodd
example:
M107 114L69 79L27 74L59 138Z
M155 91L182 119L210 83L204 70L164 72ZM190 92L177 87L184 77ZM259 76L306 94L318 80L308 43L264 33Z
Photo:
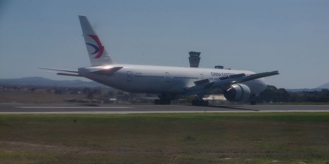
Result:
M96 74L95 70L109 67L122 67L112 75ZM191 67L151 66L114 64L79 68L79 75L107 86L134 93L184 95L184 89L195 85L195 81L209 79L210 82L220 80L233 74L255 74L248 70L210 69ZM264 78L244 82L251 94L258 94L266 88ZM218 88L207 94L221 94Z

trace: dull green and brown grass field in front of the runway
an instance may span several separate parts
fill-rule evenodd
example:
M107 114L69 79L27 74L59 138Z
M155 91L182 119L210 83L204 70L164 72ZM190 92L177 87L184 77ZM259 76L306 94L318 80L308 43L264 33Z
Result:
M0 163L275 160L329 163L329 113L0 115Z

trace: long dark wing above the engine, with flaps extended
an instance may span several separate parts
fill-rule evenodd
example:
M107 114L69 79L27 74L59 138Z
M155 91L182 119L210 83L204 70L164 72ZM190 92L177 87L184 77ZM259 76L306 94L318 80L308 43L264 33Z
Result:
M220 78L220 80L209 82L208 79L194 82L195 85L185 88L186 95L197 95L206 93L214 88L228 89L232 84L243 83L254 79L264 78L268 76L279 75L279 71L263 72L259 74L245 75L237 74Z

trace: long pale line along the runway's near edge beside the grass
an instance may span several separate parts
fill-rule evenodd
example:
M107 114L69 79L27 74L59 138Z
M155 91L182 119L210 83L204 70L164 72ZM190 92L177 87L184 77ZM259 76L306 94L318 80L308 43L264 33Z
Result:
M3 114L147 114L147 113L270 113L270 112L329 112L327 110L316 111L117 111L117 112L0 112Z

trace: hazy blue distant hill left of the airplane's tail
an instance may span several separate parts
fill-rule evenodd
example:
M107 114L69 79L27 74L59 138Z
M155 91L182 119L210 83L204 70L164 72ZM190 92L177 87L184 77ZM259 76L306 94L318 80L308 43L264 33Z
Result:
M0 86L25 86L25 87L106 87L94 81L82 80L50 80L41 77L20 79L0 79Z

